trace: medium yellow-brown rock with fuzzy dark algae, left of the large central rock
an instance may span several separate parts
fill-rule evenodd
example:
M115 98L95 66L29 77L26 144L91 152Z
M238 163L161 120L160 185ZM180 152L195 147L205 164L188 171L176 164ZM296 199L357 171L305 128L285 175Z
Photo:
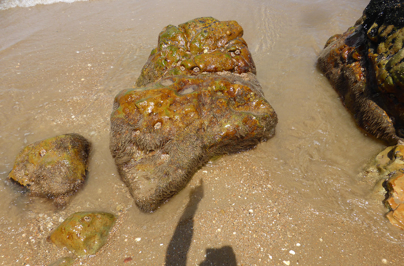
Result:
M63 206L86 177L90 142L72 133L26 146L8 178L25 186L30 195L53 199Z

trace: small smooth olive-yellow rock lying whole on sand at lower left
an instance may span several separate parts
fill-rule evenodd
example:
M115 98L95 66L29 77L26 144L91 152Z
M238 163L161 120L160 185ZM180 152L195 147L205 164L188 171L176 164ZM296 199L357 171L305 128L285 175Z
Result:
M76 212L49 236L57 247L66 247L77 256L94 254L108 239L116 216L107 212Z

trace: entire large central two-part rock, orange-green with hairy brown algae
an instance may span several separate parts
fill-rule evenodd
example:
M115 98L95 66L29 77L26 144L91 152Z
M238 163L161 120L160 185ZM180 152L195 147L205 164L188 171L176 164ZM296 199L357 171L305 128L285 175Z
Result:
M277 116L242 32L213 18L167 26L137 88L116 96L110 149L143 211L178 193L211 157L274 135Z

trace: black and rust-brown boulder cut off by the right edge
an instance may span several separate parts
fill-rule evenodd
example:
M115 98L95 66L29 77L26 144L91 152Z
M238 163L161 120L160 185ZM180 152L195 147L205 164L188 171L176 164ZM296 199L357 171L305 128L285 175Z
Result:
M391 145L404 137L404 3L371 0L327 42L318 65L358 125Z

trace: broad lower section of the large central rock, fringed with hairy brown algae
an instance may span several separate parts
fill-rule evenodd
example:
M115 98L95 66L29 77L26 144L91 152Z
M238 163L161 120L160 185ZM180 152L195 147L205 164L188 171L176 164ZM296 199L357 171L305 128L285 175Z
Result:
M252 73L170 76L116 96L110 148L137 205L151 212L210 157L253 147L276 123Z

